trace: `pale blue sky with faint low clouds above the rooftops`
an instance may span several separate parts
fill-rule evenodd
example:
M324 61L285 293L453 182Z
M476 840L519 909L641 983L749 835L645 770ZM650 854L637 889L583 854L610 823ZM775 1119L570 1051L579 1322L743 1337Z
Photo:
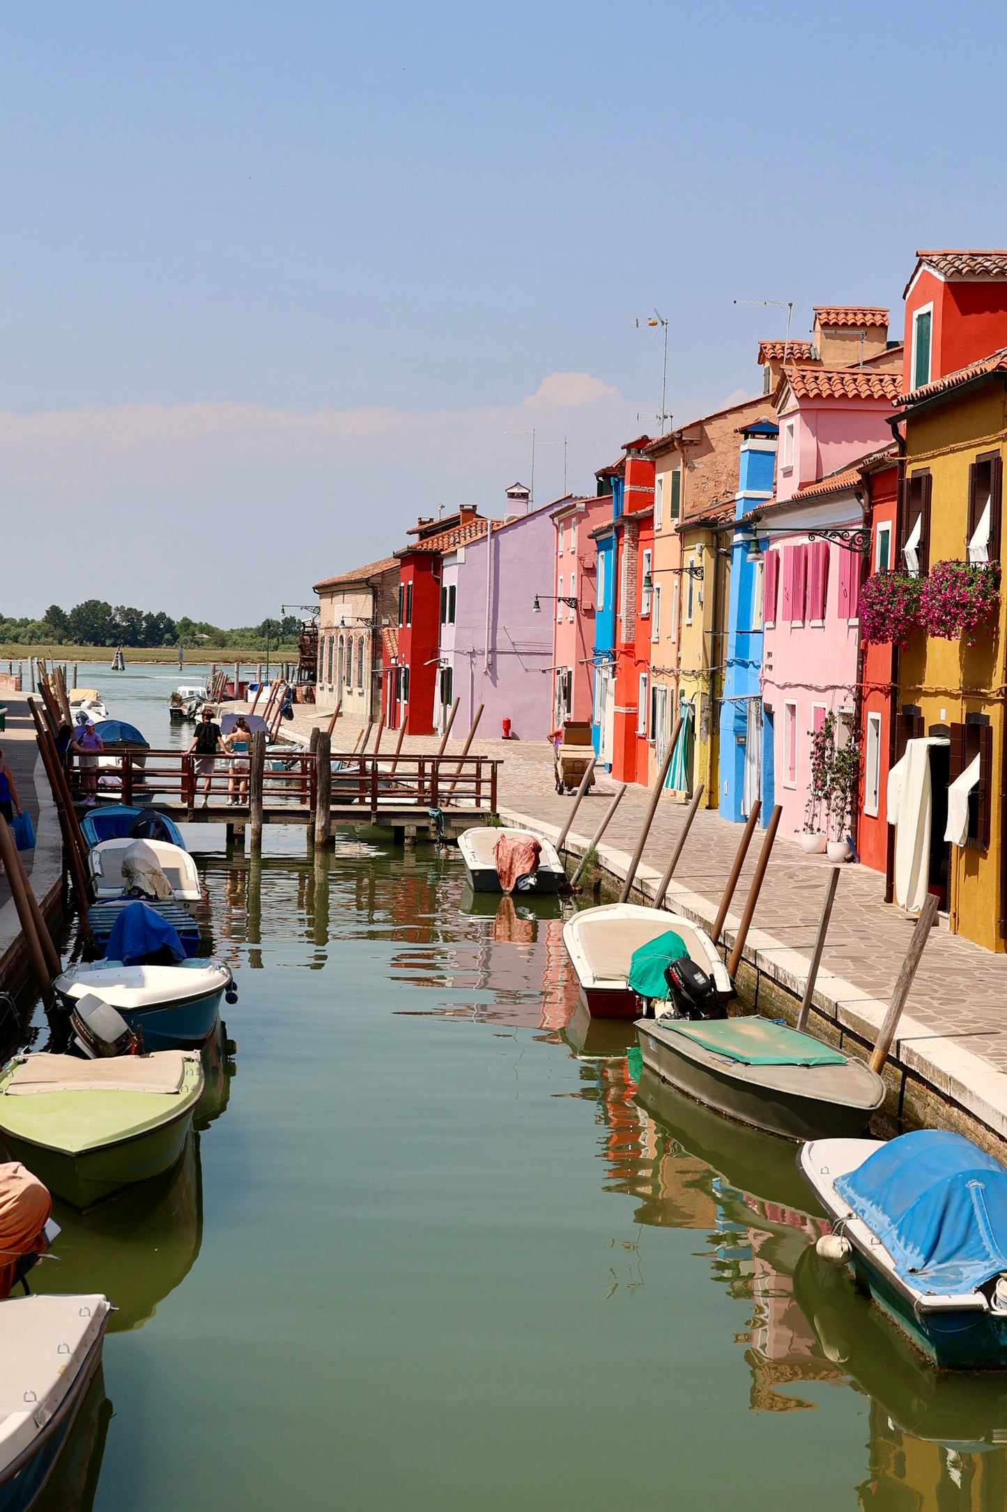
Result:
M954 20L957 17L957 20ZM1007 245L1007 12L201 0L9 8L0 513L42 579L240 623L758 389L794 301ZM536 496L562 491L562 445ZM166 570L166 564L169 570ZM6 575L5 575L6 578Z

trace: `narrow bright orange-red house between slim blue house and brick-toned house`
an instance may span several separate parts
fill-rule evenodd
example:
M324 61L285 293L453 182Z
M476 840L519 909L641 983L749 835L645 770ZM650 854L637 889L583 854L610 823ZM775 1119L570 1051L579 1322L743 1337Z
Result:
M654 561L654 461L645 455L649 435L625 446L613 472L616 532L616 703L611 776L648 782L651 717L651 590L645 576Z

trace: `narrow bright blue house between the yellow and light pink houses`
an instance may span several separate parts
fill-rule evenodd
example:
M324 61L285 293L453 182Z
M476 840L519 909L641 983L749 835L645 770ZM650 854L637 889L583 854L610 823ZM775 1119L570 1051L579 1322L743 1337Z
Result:
M771 420L741 431L735 520L773 497L776 440ZM731 547L731 596L720 705L720 812L746 820L762 800L762 824L773 810L773 712L762 708L762 550L752 529L737 529Z

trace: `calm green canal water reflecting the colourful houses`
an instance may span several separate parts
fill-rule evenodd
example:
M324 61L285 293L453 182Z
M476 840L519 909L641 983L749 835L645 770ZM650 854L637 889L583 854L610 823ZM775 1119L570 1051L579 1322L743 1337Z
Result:
M166 741L177 677L91 679ZM171 1179L59 1214L121 1311L48 1512L1002 1509L1007 1388L823 1273L790 1146L636 1087L559 904L208 835L233 1045Z

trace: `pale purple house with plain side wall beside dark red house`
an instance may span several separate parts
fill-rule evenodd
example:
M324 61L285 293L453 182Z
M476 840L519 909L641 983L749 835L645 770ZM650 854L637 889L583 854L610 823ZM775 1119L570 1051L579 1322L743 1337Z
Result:
M480 735L498 739L504 721L522 741L553 729L554 503L528 513L528 491L507 490L506 520L444 553L439 677L435 724L444 729L459 699L453 735L485 705ZM537 611L536 611L537 603Z

